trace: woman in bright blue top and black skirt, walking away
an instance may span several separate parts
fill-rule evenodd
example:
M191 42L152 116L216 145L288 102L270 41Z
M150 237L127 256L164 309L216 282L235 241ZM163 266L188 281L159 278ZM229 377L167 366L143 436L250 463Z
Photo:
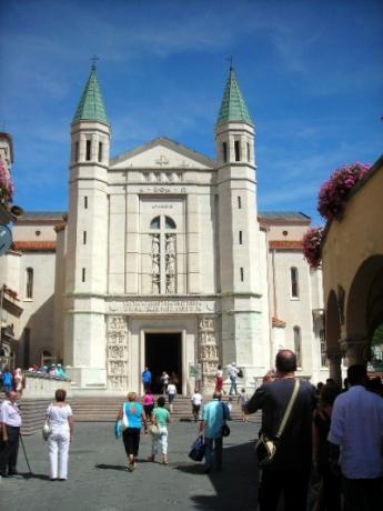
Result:
M128 470L130 472L132 472L137 467L137 455L139 453L142 424L144 427L145 434L148 434L142 404L137 402L135 392L129 392L128 401L123 403L118 414L114 432L118 434L119 428L122 430L122 441L128 455Z

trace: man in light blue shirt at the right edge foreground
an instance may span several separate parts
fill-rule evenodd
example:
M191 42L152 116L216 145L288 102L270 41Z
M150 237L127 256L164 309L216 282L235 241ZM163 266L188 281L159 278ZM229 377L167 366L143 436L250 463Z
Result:
M365 365L350 365L347 379L331 415L332 461L340 454L347 511L375 511L383 509L383 399L365 389Z

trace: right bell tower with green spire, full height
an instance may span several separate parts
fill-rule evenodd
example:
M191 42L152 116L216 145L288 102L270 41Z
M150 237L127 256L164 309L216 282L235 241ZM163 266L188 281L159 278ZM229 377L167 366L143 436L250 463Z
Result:
M251 381L261 345L254 124L231 66L215 124L222 362Z

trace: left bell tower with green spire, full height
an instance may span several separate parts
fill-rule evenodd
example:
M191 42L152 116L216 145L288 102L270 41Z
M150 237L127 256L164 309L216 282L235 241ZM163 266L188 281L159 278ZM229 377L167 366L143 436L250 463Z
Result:
M95 64L71 123L64 363L80 385L105 384L110 124Z

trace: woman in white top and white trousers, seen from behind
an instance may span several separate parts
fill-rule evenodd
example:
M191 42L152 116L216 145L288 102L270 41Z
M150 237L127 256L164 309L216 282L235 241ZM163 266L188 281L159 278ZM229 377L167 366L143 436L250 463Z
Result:
M68 477L69 444L73 435L72 409L65 403L67 392L58 389L54 402L48 407L47 419L51 433L48 439L51 481L65 481Z

